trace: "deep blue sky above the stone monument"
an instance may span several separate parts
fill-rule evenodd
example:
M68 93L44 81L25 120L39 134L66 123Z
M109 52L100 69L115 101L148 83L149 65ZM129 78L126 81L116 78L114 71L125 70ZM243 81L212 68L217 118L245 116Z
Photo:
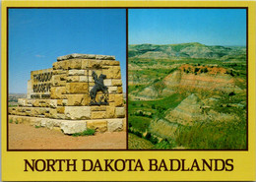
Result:
M125 91L125 10L9 9L9 92L26 93L31 71L71 53L114 55Z

